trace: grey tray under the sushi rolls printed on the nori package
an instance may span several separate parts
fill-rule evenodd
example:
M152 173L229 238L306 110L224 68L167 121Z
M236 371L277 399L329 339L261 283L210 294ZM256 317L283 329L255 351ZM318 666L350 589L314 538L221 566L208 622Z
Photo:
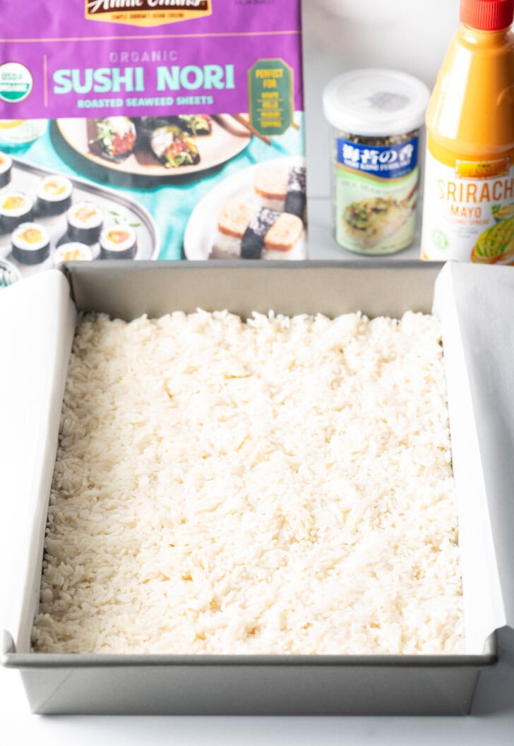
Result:
M69 241L66 235L67 222L66 213L60 215L48 215L44 213L38 213L36 204L36 189L37 183L40 179L57 175L57 171L43 168L43 166L37 166L34 163L29 163L27 160L21 158L11 157L13 167L11 169L10 181L0 189L0 200L1 195L5 192L13 189L15 191L24 192L31 198L34 198L34 222L43 225L50 236L50 255L48 259L44 260L40 264L27 265L16 261L16 259L10 253L11 242L10 233L1 231L0 229L0 258L8 259L13 263L19 270L23 277L29 277L34 275L36 272L40 272L42 269L51 269L54 266L54 250L61 243ZM126 195L109 189L101 184L95 184L92 181L86 181L85 179L78 178L76 176L69 176L67 174L60 174L66 176L69 181L72 182L73 194L72 204L81 201L90 201L96 204L104 213L104 226L116 225L116 222L128 222L133 225L137 233L137 252L134 259L136 260L154 260L159 256L160 251L160 238L159 231L154 219L140 204L134 199L127 197ZM93 259L98 259L100 253L100 245L95 242L91 245L93 251Z

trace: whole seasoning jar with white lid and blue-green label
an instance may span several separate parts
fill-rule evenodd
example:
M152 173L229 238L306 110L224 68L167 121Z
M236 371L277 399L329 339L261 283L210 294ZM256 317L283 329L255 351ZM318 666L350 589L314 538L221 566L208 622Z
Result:
M429 97L424 83L395 70L354 70L325 88L335 233L342 248L393 254L413 242L419 128Z

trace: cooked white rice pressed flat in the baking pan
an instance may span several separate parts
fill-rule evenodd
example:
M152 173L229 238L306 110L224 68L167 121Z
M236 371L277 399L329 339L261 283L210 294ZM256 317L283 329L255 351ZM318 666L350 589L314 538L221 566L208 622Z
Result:
M33 643L463 652L436 319L85 317Z

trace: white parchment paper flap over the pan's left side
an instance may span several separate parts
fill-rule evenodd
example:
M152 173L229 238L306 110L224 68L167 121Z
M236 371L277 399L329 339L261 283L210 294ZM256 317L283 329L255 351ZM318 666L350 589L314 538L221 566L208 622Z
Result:
M29 651L39 602L37 574L76 316L69 284L57 270L0 293L0 494L8 515L4 530L16 533L16 555L1 562L11 600L1 626L20 653Z

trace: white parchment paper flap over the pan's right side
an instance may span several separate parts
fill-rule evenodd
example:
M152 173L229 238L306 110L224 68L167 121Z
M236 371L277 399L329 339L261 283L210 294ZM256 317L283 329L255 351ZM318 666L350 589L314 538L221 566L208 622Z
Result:
M457 484L468 653L514 623L514 270L448 263L436 281Z

